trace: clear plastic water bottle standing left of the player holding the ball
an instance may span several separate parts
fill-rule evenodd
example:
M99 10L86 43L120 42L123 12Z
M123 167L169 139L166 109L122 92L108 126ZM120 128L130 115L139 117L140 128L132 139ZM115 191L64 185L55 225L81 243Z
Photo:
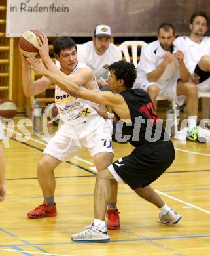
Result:
M33 123L33 132L41 133L41 131L42 131L42 107L41 107L39 100L37 100L37 99L35 99L33 102L32 123Z

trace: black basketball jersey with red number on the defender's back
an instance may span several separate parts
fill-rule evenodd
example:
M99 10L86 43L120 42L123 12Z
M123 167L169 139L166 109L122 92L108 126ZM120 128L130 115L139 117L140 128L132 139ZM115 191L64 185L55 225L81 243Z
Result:
M122 135L126 137L130 135L128 141L135 147L164 140L162 121L158 119L148 93L142 89L127 89L120 95L126 101L131 115L131 123L123 124ZM168 135L167 137L169 138Z

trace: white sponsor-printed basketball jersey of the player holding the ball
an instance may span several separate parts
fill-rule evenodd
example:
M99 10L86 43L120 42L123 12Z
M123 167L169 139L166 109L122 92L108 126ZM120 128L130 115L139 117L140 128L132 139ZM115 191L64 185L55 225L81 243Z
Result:
M77 63L77 66L71 72L71 74L77 72L80 68L88 67L86 64L81 62ZM96 81L96 79L95 79ZM96 82L97 85L97 82ZM97 86L98 87L98 86ZM84 86L80 86L82 89L86 89ZM92 91L99 91L98 89ZM70 122L71 125L77 125L86 121L88 118L98 115L93 106L99 107L99 104L90 102L88 100L82 100L75 98L69 93L66 93L58 85L55 87L55 102L60 113L60 117L64 122Z

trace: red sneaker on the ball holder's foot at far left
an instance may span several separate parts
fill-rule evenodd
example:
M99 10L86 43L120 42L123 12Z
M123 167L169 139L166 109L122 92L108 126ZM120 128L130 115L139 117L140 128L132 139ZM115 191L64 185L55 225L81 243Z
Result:
M56 203L54 205L47 205L45 202L41 205L39 205L37 208L33 209L32 211L29 211L27 213L27 217L31 219L39 219L43 217L54 217L56 216L57 210L56 210Z

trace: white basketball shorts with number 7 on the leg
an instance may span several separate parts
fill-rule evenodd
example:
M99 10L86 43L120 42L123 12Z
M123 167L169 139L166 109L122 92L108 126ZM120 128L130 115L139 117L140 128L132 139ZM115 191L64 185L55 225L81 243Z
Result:
M70 124L71 122L61 125L56 135L48 142L43 154L54 156L61 161L72 158L83 147L88 148L92 157L100 152L113 154L113 131L109 121L100 116L92 116L79 125Z

